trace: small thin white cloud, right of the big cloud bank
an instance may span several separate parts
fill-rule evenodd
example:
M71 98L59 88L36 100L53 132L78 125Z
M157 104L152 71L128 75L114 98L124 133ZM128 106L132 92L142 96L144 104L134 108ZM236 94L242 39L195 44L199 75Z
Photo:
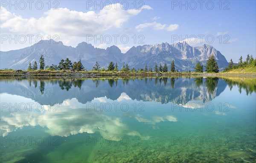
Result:
M140 31L143 31L144 28L148 28L148 27L153 27L154 30L174 31L179 27L179 25L171 24L167 26L166 24L161 24L158 22L146 22L146 23L137 25L135 27L135 30L140 32Z

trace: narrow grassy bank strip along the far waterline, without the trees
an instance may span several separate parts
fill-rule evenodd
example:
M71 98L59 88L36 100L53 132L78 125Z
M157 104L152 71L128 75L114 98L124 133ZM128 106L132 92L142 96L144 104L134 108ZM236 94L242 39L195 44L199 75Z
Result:
M254 72L225 72L225 73L155 73L155 72L96 72L96 71L49 71L49 70L0 70L0 78L21 77L21 78L102 78L102 77L172 77L172 76L190 76L190 77L241 77L256 78Z

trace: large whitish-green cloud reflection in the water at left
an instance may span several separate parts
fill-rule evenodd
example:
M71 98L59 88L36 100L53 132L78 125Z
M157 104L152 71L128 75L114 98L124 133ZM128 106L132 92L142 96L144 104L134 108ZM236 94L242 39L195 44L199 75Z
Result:
M78 133L99 132L103 137L122 137L123 135L141 136L123 124L120 118L111 118L104 112L86 110L85 104L75 98L65 100L59 112L2 112L1 135L21 129L24 126L42 126L50 135L69 136Z

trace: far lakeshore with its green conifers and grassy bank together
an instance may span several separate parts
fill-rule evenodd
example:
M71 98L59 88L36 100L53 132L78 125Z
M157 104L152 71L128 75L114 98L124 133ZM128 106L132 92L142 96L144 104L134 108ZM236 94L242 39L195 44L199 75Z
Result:
M224 71L219 72L218 63L216 62L213 55L209 56L209 59L206 65L202 65L198 62L195 65L195 72L185 71L178 72L175 68L175 61L172 60L170 65L170 69L168 70L168 66L165 63L162 65L161 63L157 65L155 63L153 69L152 67L148 67L145 65L144 68L135 69L128 66L128 64L123 64L122 68L119 70L119 66L110 62L108 68L100 67L99 63L96 62L92 67L92 70L87 70L81 63L79 62L71 62L70 59L61 59L59 65L51 65L45 66L44 56L41 55L39 59L39 70L38 64L35 61L33 65L29 63L29 67L27 70L12 70L12 69L4 69L0 70L0 76L70 76L70 77L95 77L95 76L172 76L172 75L189 75L189 76L249 76L255 77L256 73L256 59L253 59L253 56L247 55L246 60L242 61L242 56L239 59L239 63L236 65L233 63L232 59L230 60L227 67L225 67ZM204 72L205 69L205 72Z

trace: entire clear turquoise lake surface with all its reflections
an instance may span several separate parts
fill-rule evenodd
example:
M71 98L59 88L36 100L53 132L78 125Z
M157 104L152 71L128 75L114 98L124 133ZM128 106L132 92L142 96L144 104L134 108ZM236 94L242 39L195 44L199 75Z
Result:
M256 162L256 82L0 80L0 162Z

